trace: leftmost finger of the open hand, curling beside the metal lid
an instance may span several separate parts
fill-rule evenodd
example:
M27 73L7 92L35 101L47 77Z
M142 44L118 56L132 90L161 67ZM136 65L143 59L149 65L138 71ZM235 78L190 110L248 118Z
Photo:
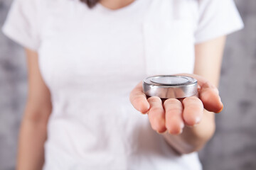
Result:
M140 111L141 113L147 113L149 111L149 102L146 100L146 95L142 89L142 82L137 84L129 95L129 100L132 103L132 106Z

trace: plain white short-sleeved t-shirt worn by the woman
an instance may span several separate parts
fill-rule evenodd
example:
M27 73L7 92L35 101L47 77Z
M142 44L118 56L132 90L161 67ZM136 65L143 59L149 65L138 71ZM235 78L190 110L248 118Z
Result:
M152 74L193 73L194 45L242 28L233 0L15 0L3 31L38 52L50 89L44 170L201 169L129 102Z

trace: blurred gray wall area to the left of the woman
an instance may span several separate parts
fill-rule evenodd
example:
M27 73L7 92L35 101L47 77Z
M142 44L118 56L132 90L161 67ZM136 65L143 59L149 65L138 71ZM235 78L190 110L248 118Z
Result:
M11 1L0 0L0 27ZM14 169L18 128L26 100L26 58L0 33L0 169Z

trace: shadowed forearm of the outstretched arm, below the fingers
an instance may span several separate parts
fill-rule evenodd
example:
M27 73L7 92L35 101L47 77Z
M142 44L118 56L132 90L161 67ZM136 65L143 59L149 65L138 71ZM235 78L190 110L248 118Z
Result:
M181 135L162 135L169 144L180 154L198 151L210 140L215 132L214 114L204 110L203 118L195 127L186 126Z

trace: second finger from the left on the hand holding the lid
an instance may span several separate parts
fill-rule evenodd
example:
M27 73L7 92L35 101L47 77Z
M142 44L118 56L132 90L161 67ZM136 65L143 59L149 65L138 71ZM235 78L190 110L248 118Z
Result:
M159 133L165 132L165 115L161 98L154 96L148 98L148 101L150 104L149 122L151 124L151 128Z

